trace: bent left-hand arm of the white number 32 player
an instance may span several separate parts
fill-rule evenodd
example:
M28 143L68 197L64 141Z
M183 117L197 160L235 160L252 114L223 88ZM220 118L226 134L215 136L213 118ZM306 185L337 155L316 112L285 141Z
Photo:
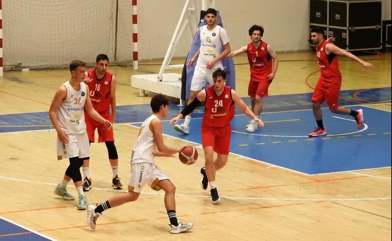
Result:
M68 135L61 129L56 116L56 111L65 97L67 97L67 89L65 86L60 86L53 97L52 104L49 107L49 118L53 123L54 129L57 131L58 139L60 139L62 143L68 144Z

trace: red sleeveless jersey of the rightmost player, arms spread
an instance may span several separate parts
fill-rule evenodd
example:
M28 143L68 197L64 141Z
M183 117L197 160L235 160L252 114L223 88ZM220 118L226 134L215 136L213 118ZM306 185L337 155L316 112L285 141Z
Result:
M325 45L329 43L324 40L321 45L316 48L318 64L321 71L321 78L328 79L333 77L340 77L338 57L334 53L326 54Z

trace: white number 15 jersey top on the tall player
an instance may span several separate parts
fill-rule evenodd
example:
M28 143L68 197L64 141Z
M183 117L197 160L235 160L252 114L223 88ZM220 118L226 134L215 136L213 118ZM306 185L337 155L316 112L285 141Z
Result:
M207 25L200 27L200 54L197 65L205 68L206 64L222 53L222 46L229 43L226 30L215 25L211 30L207 29ZM221 61L216 62L216 66L221 65Z

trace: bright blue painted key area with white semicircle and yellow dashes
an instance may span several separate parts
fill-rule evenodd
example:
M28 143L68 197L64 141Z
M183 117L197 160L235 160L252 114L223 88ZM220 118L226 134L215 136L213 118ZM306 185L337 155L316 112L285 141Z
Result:
M352 108L364 109L365 127L358 129L351 116L324 110L328 135L323 137L307 136L316 126L311 110L261 114L265 127L254 133L245 130L247 116L235 116L230 152L307 175L391 166L391 113ZM190 135L163 123L164 134L201 143L200 118L191 120Z

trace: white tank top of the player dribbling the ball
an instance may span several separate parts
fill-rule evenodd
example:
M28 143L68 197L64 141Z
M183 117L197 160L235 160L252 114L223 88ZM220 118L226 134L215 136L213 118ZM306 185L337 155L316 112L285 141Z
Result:
M151 115L143 122L142 126L140 127L136 145L132 150L131 164L140 162L150 162L154 164L156 143L150 129L151 122L154 119L158 119L158 117Z

